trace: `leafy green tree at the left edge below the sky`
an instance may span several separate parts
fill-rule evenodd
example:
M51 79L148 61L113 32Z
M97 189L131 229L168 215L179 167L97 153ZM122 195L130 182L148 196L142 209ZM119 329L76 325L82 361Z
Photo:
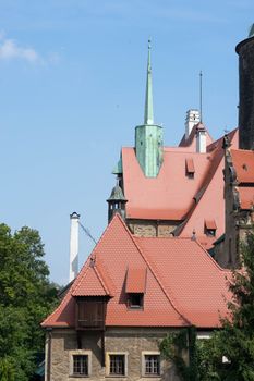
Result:
M14 234L0 224L0 381L27 381L44 348L41 320L56 305L57 292L43 260L37 231Z

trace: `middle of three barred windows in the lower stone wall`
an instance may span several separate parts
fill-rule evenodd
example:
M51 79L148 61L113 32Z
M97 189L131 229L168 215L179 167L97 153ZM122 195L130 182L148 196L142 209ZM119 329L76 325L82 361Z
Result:
M128 353L110 352L106 354L106 374L125 377L128 372Z

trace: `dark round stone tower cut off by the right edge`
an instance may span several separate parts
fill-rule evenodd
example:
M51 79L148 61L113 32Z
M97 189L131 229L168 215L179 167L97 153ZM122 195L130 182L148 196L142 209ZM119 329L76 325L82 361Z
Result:
M235 51L239 54L239 148L254 149L254 24Z

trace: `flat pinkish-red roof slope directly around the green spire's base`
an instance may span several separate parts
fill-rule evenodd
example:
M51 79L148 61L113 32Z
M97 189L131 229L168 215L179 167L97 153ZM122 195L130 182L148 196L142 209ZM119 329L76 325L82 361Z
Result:
M210 155L164 149L164 162L157 177L146 177L134 148L122 148L126 217L133 219L183 220L194 205L193 197L209 169ZM195 165L194 179L185 173L185 160Z

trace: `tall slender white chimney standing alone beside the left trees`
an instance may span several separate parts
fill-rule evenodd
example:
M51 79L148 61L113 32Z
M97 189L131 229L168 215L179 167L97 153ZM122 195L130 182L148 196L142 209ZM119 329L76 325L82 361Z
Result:
M70 234L70 275L69 281L73 281L78 272L78 221L80 214L75 211L70 216L71 234Z

